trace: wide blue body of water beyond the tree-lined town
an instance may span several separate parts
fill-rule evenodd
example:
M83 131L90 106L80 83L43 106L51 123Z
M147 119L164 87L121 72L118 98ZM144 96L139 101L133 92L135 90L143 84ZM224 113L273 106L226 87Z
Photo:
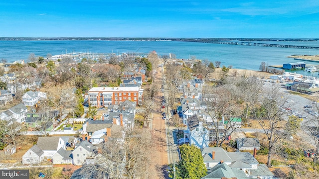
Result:
M260 42L262 43L262 42ZM271 44L289 44L303 46L319 46L319 42L264 42ZM220 61L221 65L233 66L237 69L259 70L261 62L268 65L300 62L287 58L292 54L318 55L319 50L258 47L248 45L207 44L198 42L176 41L100 41L100 40L56 40L56 41L0 41L0 59L8 62L27 60L30 53L46 57L46 54L59 55L71 52L93 53L173 53L177 58ZM306 64L319 63L305 62Z

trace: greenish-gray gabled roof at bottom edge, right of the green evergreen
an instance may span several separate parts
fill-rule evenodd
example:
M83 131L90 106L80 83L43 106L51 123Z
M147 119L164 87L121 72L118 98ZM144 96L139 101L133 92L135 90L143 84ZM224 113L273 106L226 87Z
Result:
M225 178L237 178L237 179L248 179L244 171L239 169L231 169L227 164L219 163L211 169L211 173L202 179L221 179Z

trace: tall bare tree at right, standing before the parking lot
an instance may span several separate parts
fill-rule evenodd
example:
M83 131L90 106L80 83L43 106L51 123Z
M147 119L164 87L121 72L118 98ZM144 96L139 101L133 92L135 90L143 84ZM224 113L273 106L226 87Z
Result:
M265 89L260 97L260 106L256 105L252 108L252 113L265 132L268 142L268 159L267 165L271 165L271 159L280 144L280 140L287 137L285 132L286 120L284 106L287 98L280 92L280 85L271 84L270 89Z

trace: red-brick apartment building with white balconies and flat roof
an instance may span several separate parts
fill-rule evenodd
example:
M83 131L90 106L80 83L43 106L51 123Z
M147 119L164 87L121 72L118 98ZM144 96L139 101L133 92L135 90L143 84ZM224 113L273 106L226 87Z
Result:
M119 104L125 100L142 104L143 90L139 87L95 87L88 91L89 104L104 107L110 104Z

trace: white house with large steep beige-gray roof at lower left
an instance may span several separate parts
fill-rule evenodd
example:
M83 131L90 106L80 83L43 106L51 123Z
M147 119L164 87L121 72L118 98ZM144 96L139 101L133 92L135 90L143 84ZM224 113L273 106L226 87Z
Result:
M62 137L39 137L36 145L44 152L44 157L51 159L53 155L60 149L66 149L66 142Z

